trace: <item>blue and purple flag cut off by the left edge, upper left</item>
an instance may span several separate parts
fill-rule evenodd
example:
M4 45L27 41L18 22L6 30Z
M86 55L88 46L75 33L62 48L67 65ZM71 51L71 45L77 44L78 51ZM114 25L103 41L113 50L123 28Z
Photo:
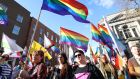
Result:
M8 23L8 17L6 12L0 7L0 25L6 25Z

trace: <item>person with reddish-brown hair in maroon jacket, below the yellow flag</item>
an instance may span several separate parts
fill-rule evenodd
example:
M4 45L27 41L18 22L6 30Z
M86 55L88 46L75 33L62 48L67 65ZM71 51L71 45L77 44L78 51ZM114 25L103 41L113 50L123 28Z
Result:
M33 67L30 70L31 79L45 79L46 78L46 65L44 64L44 52L39 50L33 53L32 57Z

